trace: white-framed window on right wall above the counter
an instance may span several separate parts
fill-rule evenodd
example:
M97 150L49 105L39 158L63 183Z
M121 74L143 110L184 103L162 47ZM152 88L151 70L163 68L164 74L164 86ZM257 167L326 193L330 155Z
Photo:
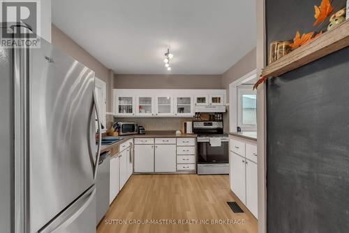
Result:
M257 128L257 95L251 85L242 85L237 90L237 126L244 129Z

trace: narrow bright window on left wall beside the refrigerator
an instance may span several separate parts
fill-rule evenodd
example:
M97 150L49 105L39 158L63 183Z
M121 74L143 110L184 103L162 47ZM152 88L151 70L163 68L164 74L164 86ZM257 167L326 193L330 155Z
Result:
M99 114L101 117L101 123L104 125L104 127L106 127L107 85L103 80L99 78L96 78L95 80L95 93L96 93L97 106L98 106ZM98 129L97 124L96 124L96 129Z

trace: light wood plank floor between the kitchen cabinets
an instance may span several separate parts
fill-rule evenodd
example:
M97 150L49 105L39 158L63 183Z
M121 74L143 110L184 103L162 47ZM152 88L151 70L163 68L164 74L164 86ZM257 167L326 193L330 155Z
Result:
M226 202L238 202L245 213L232 212ZM130 223L135 220L163 220L163 224ZM165 224L164 220L176 223ZM179 220L207 220L208 224L195 221L179 224ZM244 220L244 223L211 224L211 220ZM131 176L97 232L256 233L258 230L257 220L230 191L228 176L149 174Z

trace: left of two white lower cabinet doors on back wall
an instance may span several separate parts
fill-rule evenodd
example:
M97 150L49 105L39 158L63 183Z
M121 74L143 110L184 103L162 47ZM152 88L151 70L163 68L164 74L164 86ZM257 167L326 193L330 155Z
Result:
M135 145L135 172L154 172L154 145Z

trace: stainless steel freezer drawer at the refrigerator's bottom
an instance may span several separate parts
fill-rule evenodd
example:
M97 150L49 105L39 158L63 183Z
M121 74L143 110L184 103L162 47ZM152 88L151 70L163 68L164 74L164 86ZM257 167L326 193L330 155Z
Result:
M96 233L96 188L92 186L38 233Z

